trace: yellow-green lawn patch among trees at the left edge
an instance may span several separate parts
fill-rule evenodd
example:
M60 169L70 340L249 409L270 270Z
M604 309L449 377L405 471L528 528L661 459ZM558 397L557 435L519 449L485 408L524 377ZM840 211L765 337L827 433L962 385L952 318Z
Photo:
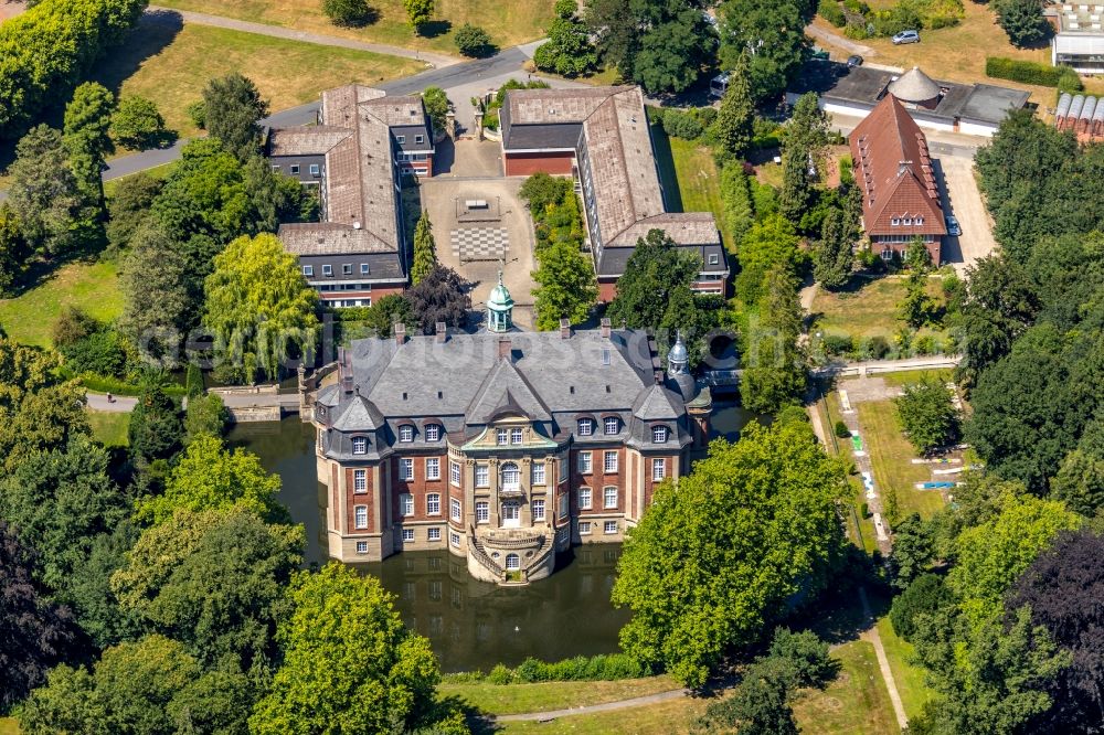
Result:
M0 299L0 327L17 342L50 347L50 330L66 305L102 321L118 317L123 295L115 264L68 263L17 298Z

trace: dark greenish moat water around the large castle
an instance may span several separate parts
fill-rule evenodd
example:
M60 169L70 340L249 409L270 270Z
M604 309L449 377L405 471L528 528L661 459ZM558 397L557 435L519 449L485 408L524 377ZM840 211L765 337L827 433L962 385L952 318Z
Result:
M712 417L713 432L735 440L754 416L728 405ZM325 490L315 478L314 429L298 416L279 424L242 424L229 436L284 480L280 500L306 528L308 564L326 562ZM556 661L612 653L627 610L609 601L620 544L575 547L561 555L555 574L526 587L499 587L470 577L463 558L446 551L405 552L359 565L396 597L403 620L427 637L444 671L490 670L533 656Z

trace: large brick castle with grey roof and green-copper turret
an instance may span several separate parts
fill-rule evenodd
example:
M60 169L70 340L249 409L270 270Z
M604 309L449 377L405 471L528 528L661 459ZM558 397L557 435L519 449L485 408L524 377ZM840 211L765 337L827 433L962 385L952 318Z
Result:
M475 334L353 342L308 401L330 556L445 547L497 583L548 576L571 544L613 542L709 436L681 338L518 332L509 290Z

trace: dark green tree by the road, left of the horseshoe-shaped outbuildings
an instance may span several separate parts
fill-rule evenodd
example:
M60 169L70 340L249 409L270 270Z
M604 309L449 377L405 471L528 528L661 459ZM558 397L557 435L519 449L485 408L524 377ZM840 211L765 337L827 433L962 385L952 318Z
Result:
M236 72L211 79L203 87L203 105L206 131L227 151L245 160L259 150L268 102L252 79Z

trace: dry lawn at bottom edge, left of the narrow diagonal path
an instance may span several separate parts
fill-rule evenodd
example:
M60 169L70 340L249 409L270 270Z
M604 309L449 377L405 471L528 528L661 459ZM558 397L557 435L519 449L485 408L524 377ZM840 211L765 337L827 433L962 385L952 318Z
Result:
M794 714L803 735L874 735L899 732L874 646L864 640L832 650L842 664L825 691L798 693Z

